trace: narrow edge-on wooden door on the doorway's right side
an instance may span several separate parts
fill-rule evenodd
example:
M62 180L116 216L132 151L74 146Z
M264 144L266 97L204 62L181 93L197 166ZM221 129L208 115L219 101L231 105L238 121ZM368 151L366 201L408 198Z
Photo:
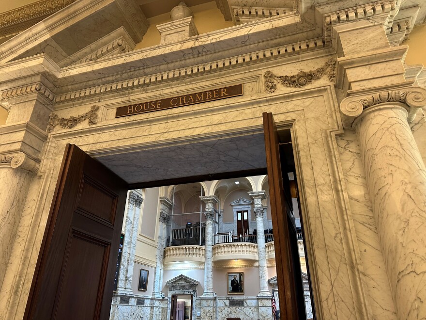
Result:
M274 247L278 293L280 295L280 314L284 319L305 319L304 295L295 227L289 207L290 199L285 194L284 177L280 157L280 140L272 113L263 112L265 134L266 166L270 192L272 225L274 228ZM283 176L286 175L286 176ZM294 231L293 231L294 229ZM302 291L300 291L302 290Z

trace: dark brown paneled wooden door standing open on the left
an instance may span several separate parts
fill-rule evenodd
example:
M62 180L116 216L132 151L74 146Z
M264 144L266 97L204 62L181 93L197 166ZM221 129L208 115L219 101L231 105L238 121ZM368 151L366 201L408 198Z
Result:
M67 144L24 319L109 319L127 187Z

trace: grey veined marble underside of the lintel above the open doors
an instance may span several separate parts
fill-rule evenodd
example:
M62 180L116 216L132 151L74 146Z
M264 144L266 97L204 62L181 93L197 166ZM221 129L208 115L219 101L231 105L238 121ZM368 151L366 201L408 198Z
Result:
M161 147L133 147L127 152L91 154L127 183L208 176L266 168L264 136L251 133Z

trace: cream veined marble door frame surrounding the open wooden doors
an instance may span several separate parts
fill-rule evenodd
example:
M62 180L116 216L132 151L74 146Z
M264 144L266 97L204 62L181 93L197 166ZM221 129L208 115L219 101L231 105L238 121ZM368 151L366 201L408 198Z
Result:
M261 81L256 75L255 78L247 78L243 82L258 81L256 79ZM209 84L211 85L211 81L199 83ZM260 91L261 87L259 82ZM185 85L173 90L183 92L187 87ZM164 95L168 91L158 87L153 92ZM153 93L143 93L144 97L150 95ZM137 99L140 96L141 93L135 91L128 98ZM19 319L23 316L22 306L27 303L34 266L40 251L40 229L46 226L66 143L72 142L91 157L98 159L105 154L125 154L135 148L139 151L157 146L191 144L206 139L206 135L209 139L218 139L228 135L255 134L262 129L263 111L274 113L278 127L291 128L297 182L306 227L306 251L311 257L310 275L313 279L317 317L366 317L368 291L364 285L365 276L360 269L360 251L335 139L335 136L343 131L333 84L320 83L319 86L309 86L300 91L283 91L269 96L261 92L254 96L235 98L231 104L214 102L212 108L205 109L198 105L157 112L155 115L136 115L132 119L125 117L114 120L106 117L108 110L122 104L122 95L106 95L106 98L111 100L105 100L108 102L105 102L105 112L103 111L102 121L98 125L82 125L72 130L57 128L48 135L40 155L42 162L39 173L34 176L28 192L27 201L31 201L33 205L25 208L22 214L18 228L21 238L11 255L11 261L15 261L15 264L8 267L1 290L1 293L8 297L0 301L1 309L5 310L1 314L5 315L6 319ZM97 102L79 100L76 107L86 108ZM69 115L65 109L61 112L61 115ZM227 117L223 116L224 112L227 112ZM200 121L191 122L190 119L194 117ZM318 121L319 117L324 121ZM232 128L229 128L229 119L232 119ZM164 130L164 126L169 125L172 120L175 121L174 126L180 128L179 135ZM116 130L120 130L120 136L115 134ZM144 134L140 134L141 132ZM221 176L217 175L216 178ZM189 177L187 181L210 179L211 175L204 175ZM176 183L174 180L147 181L130 185L129 188L169 185ZM317 188L318 185L321 188ZM336 261L346 266L344 271L340 265L336 265ZM330 308L330 305L345 305L346 308Z

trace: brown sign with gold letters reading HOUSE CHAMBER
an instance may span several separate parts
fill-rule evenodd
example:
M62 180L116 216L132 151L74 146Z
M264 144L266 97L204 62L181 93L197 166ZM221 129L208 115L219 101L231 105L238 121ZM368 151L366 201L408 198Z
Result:
M243 85L236 84L229 87L201 91L201 92L197 92L197 93L193 93L189 95L175 96L175 97L166 98L166 99L135 103L130 106L119 107L117 108L115 112L115 117L120 118L120 117L125 117L128 115L189 106L192 104L226 99L226 98L231 98L233 96L242 96L242 95L243 95Z

